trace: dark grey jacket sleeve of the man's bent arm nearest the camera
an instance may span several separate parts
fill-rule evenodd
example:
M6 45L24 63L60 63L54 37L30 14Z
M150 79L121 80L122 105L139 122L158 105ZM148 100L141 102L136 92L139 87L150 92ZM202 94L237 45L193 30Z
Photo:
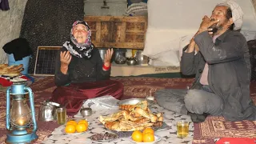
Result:
M208 64L230 62L243 57L246 40L240 33L227 35L225 42L215 45L208 31L195 36L194 41Z

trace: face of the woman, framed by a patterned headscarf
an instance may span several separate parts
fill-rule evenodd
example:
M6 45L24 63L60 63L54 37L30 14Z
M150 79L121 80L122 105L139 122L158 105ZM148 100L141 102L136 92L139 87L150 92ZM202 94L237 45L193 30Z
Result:
M85 43L88 34L87 27L85 25L78 24L74 26L72 34L78 43Z

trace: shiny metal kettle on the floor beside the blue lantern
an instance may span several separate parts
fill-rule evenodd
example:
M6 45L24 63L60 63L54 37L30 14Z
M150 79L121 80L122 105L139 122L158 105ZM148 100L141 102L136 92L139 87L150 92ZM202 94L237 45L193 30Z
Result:
M56 109L60 106L60 104L56 102L49 102L44 101L42 102L39 113L38 113L38 119L42 122L49 122L54 121L57 119L56 115Z

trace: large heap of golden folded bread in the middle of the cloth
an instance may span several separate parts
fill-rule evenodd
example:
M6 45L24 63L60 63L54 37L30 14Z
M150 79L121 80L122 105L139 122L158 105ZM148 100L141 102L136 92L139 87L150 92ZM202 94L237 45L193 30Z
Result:
M99 122L106 129L117 132L144 130L146 127L162 127L163 114L151 113L146 100L136 104L119 105L120 111L100 116Z

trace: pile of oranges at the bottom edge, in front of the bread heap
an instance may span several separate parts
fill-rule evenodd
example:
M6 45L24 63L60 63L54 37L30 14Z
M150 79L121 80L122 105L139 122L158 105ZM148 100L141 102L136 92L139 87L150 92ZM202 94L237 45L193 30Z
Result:
M147 127L142 132L139 130L135 130L131 135L131 138L135 142L154 142L154 130L150 127Z

